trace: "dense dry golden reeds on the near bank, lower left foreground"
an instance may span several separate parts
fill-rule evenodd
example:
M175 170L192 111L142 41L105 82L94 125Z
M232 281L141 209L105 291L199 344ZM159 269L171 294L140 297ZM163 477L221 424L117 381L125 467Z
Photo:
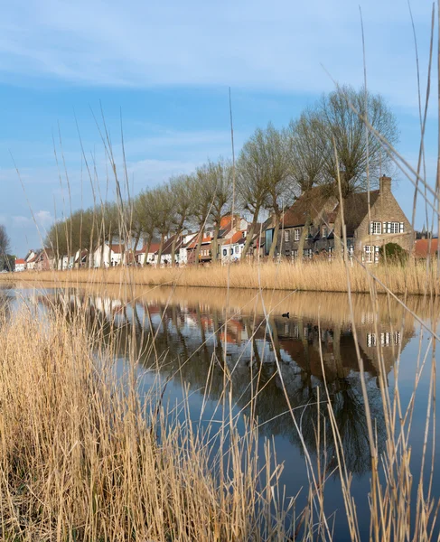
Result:
M82 323L22 313L1 327L0 538L285 539L281 469L269 446L258 463L255 426L239 436L227 419L207 446L212 427L136 395L133 357L123 388Z

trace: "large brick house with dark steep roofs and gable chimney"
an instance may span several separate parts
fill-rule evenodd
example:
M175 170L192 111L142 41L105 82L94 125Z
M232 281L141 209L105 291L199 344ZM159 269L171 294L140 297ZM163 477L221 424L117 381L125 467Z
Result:
M379 248L387 243L397 243L409 250L414 242L414 232L405 213L391 192L391 179L382 176L379 190L351 194L345 201L344 220L347 246L366 263L379 260ZM334 226L340 213L337 198L329 195L325 187L315 187L306 192L284 213L281 219L276 255L284 257L332 257L334 253ZM272 244L275 224L265 231L265 254ZM298 254L303 241L303 254Z

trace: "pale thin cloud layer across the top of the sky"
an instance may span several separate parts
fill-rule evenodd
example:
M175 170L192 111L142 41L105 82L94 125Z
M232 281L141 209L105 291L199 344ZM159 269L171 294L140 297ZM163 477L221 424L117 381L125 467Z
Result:
M422 78L430 5L413 3ZM405 2L362 6L370 88L417 105ZM363 78L358 4L352 0L16 0L0 22L0 74L112 86L215 85L320 93Z

